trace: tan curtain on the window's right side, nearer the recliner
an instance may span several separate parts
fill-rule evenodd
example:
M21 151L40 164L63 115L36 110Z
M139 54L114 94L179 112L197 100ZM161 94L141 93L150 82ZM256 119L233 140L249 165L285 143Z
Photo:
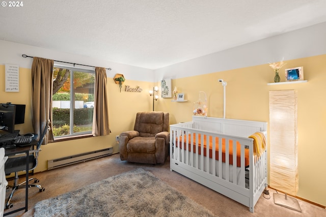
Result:
M108 127L108 103L105 68L95 68L93 136L110 134Z

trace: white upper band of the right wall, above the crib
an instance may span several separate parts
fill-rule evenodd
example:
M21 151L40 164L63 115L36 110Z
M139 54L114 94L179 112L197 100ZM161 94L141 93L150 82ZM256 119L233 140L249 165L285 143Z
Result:
M221 72L326 53L326 22L155 70L155 81Z

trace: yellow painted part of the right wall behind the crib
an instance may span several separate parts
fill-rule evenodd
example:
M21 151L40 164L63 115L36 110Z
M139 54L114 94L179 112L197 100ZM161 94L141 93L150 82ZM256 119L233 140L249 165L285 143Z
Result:
M193 103L199 99L199 91L205 91L208 101L208 116L223 117L223 86L218 79L227 81L226 118L269 122L269 90L297 90L298 111L298 197L326 205L326 182L324 173L326 144L326 55L285 60L280 71L281 82L285 81L284 69L303 66L306 83L267 85L274 82L274 72L268 64L216 72L200 76L174 79L172 86L185 93L187 102L171 102L159 99L161 110L170 112L171 123L192 119Z

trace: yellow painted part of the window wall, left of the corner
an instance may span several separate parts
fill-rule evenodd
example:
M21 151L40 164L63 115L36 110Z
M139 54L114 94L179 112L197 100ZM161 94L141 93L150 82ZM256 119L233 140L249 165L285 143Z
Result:
M21 134L31 133L33 130L31 116L31 69L19 68L19 92L5 92L5 66L0 66L0 102L13 104L25 104L25 123L16 125L15 129ZM130 87L140 86L142 92L126 92L125 85ZM119 85L113 78L107 78L108 102L111 134L93 138L69 140L43 145L39 155L39 165L36 172L47 170L47 161L51 159L70 156L73 154L113 147L113 152L119 152L119 146L115 136L123 131L133 129L135 114L138 111L150 111L152 101L148 94L153 83L144 81L130 81L126 78L121 92Z

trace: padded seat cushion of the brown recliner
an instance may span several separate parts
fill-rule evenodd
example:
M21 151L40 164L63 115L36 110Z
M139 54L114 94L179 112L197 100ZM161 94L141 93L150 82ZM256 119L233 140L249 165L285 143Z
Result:
M129 153L155 153L155 137L135 137L127 143Z

